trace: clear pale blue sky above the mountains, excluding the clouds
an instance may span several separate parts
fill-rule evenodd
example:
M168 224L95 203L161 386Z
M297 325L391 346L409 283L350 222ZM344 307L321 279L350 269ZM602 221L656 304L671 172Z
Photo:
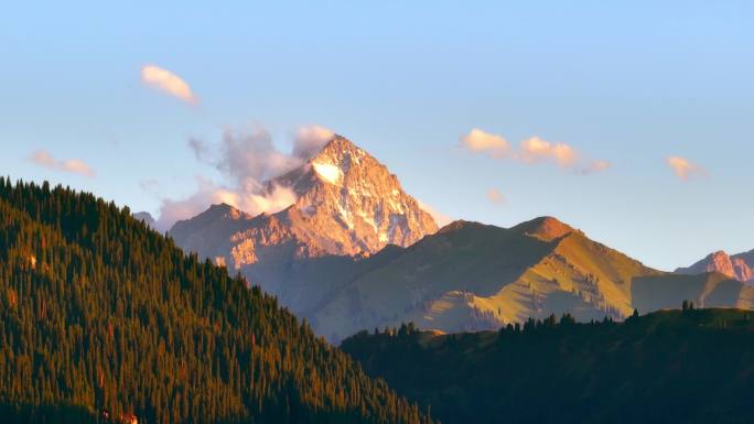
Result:
M227 183L190 138L263 128L286 150L320 124L454 218L553 215L660 269L754 248L750 1L114 3L4 6L2 173L157 214L197 176ZM148 64L198 102L143 84ZM460 145L474 128L611 166L489 157ZM682 181L668 156L704 172Z

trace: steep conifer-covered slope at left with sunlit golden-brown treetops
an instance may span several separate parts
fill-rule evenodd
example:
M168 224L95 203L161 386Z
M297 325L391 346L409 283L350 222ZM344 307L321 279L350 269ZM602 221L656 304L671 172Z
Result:
M0 178L0 422L431 420L128 208Z

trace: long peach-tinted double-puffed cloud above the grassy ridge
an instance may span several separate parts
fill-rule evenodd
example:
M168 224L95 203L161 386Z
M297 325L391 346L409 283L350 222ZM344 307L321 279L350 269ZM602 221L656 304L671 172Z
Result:
M484 153L492 159L507 159L521 163L552 162L578 174L601 172L611 166L606 161L585 160L570 144L550 142L539 137L526 139L520 142L518 149L513 149L503 135L488 133L477 128L461 138L461 145L471 152Z

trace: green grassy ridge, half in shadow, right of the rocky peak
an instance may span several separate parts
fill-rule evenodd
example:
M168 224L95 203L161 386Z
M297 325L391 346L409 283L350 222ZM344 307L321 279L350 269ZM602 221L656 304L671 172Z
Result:
M622 319L634 307L655 311L685 298L750 307L754 297L747 285L719 275L653 270L549 217L509 229L456 221L375 258L356 261L351 267L359 271L346 279L326 273L342 280L308 316L331 339L401 322L461 331L551 313ZM315 270L310 275L323 274Z

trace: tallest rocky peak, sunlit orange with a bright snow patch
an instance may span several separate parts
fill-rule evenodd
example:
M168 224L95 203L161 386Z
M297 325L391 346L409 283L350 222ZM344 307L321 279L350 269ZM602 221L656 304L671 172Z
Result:
M266 183L270 192L280 187L298 197L284 210L250 216L215 205L176 222L170 236L184 250L241 271L280 295L281 273L295 262L327 254L366 257L387 244L410 246L438 229L385 165L343 137Z

